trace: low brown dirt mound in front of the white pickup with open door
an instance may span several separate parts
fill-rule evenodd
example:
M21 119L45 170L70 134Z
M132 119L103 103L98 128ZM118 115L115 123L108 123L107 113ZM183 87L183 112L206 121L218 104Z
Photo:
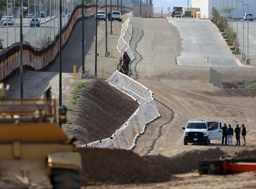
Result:
M197 170L199 160L217 160L224 154L225 152L221 151L219 148L213 148L201 151L187 151L173 157L165 157L159 154L144 156L144 158L151 160L168 173L183 174Z

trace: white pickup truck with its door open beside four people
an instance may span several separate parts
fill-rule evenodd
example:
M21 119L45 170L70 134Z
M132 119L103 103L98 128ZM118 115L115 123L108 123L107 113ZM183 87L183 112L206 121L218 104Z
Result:
M222 130L220 122L207 122L206 120L189 120L185 127L184 145L188 143L204 143L208 145L210 140L222 139Z

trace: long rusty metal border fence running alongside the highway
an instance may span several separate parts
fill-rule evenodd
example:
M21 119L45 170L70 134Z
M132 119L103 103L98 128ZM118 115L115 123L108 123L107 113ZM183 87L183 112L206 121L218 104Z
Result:
M98 10L104 10L105 6ZM113 10L117 7L113 6ZM110 6L107 5L110 11ZM123 7L124 12L131 9ZM85 17L93 17L96 13L96 5L84 6ZM77 5L68 22L62 28L62 47L64 47L72 33L77 21L82 19L82 5ZM53 42L45 48L35 48L25 41L23 44L23 70L47 71L54 63L59 54L59 33L56 34ZM20 43L13 43L10 47L0 52L0 82L7 83L12 77L19 74L20 68Z

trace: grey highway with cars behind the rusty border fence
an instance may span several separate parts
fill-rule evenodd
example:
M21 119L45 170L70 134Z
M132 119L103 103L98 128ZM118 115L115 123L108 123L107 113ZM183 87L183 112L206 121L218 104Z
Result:
M31 20L32 18L30 18ZM66 23L67 23L67 18L66 18ZM56 17L55 19L52 18L51 20L51 28L50 28L50 18L48 17L46 19L46 23L44 23L44 18L40 19L41 21L41 39L46 36L50 37L50 30L51 30L51 38L50 40L54 39L54 31L55 35L58 33L58 25L59 21L58 18ZM62 18L62 26L64 26L64 18ZM55 27L54 27L54 22L55 22ZM60 27L59 27L60 28ZM16 34L16 35L15 35ZM35 40L35 34L36 34L36 40ZM36 47L39 45L39 39L40 39L40 27L30 27L29 26L29 19L24 18L23 19L23 35L24 40L30 42L32 46L35 46L35 41L36 41ZM0 37L4 40L3 42L3 47L7 45L7 26L3 26L3 23L0 23ZM15 39L16 38L16 39ZM14 32L14 26L8 26L8 45L11 45L12 43L20 42L20 19L15 19L15 32ZM3 48L4 49L4 48ZM0 49L0 50L3 50Z

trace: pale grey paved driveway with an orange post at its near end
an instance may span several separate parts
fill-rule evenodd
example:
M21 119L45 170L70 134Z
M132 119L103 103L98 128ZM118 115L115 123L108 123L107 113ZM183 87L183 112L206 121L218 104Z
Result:
M237 58L230 54L228 46L210 20L170 18L168 21L177 27L182 39L183 50L177 58L178 64L203 67L238 67ZM208 55L209 63L207 63Z

